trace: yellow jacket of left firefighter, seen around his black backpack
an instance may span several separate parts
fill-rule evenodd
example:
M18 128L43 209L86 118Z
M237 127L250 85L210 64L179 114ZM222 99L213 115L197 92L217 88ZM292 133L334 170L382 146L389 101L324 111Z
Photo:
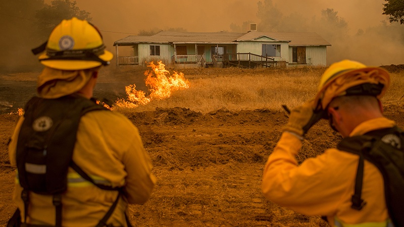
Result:
M10 162L16 165L16 144L24 118L17 122L9 144ZM144 203L156 182L151 173L150 157L143 148L137 128L123 115L114 111L92 111L80 120L73 161L93 179L109 182L113 187L124 186L125 198L107 223L126 226L127 203ZM67 191L62 195L63 226L95 226L117 198L117 191L105 191L91 183L81 182L69 168ZM76 181L73 183L73 181ZM13 200L21 210L22 188L16 184ZM31 193L28 223L55 223L52 196Z

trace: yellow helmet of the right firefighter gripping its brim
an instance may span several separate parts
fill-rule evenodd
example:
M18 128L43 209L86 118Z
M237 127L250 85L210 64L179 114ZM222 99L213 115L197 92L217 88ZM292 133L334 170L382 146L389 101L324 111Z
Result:
M373 95L380 99L389 85L387 71L343 60L332 64L321 76L314 107L326 109L334 97L343 95Z

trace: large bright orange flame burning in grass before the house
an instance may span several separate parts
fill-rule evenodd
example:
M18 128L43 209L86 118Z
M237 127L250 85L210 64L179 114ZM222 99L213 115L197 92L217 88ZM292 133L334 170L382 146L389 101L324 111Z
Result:
M132 84L125 87L128 100L118 99L116 105L120 107L134 108L139 105L145 105L153 99L164 99L171 96L175 90L186 89L189 87L189 82L185 80L183 73L174 73L170 76L170 72L166 70L166 65L162 61L150 62L147 67L151 70L144 72L146 76L145 84L150 94L146 97L146 93L141 90L136 90L136 85Z

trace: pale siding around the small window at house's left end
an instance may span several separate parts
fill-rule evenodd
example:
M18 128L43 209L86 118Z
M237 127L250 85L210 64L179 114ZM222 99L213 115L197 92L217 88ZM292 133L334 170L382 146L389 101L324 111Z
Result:
M150 45L158 45L160 46L160 55L150 55ZM170 64L171 63L171 55L172 47L170 49L170 44L159 44L159 43L141 43L139 44L139 64L144 65L146 62L151 61L159 61L161 60L163 64Z

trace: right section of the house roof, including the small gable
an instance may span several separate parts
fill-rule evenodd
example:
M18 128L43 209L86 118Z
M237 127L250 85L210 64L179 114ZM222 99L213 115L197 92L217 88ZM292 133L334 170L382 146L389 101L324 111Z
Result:
M323 37L315 32L258 32L250 31L239 37L236 41L254 41L267 36L278 41L290 41L289 46L330 46Z

